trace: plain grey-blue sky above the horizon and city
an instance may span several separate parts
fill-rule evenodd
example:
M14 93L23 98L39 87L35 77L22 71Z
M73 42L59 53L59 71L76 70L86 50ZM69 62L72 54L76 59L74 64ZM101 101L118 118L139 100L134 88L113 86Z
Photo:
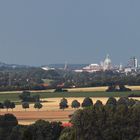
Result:
M139 0L0 1L0 61L9 64L140 61Z

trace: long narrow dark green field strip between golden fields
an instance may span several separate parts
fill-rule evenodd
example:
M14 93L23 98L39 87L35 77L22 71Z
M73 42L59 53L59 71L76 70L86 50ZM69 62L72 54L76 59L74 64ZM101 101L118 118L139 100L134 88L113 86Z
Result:
M41 98L55 98L55 97L121 97L128 96L130 94L139 94L140 91L132 92L61 92L61 93L32 93L32 95L39 94ZM6 99L9 99L14 102L19 102L20 93L0 93L0 102L3 102Z

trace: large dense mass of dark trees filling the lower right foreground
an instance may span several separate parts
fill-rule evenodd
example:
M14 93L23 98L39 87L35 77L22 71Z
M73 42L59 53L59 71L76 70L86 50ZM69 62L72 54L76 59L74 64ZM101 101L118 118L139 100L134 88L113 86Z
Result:
M140 140L140 102L110 97L75 111L60 140Z

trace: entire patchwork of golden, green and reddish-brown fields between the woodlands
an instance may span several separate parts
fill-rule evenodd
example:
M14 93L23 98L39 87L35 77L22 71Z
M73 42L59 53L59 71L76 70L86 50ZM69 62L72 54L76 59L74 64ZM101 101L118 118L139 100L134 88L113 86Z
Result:
M130 88L130 87L129 87ZM0 102L3 102L6 99L14 101L17 105L14 111L8 111L8 113L13 113L20 124L31 124L38 119L44 119L49 121L69 121L69 115L72 114L75 109L72 109L71 102L76 99L80 103L83 102L84 97L91 97L95 103L97 100L101 100L103 104L106 103L108 97L118 97L128 96L132 93L140 94L139 87L132 87L133 91L131 92L105 92L106 87L98 88L74 88L69 89L69 92L64 93L54 93L53 90L45 91L32 91L31 94L39 94L43 102L43 108L40 111L34 109L34 104L30 104L30 108L27 111L21 106L21 101L19 100L19 94L21 92L0 92ZM68 100L69 108L66 110L59 109L59 103L62 97L65 97ZM136 98L140 100L140 98ZM5 114L7 111L3 109L0 114Z

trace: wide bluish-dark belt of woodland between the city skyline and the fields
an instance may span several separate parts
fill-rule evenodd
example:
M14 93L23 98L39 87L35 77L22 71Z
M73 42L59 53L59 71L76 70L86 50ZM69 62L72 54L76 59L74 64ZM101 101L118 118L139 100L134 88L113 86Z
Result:
M133 75L114 71L76 73L60 69L45 71L37 67L28 67L0 68L0 77L0 91L56 89L62 83L64 87L140 85L140 72ZM44 79L51 81L47 87L44 86Z

